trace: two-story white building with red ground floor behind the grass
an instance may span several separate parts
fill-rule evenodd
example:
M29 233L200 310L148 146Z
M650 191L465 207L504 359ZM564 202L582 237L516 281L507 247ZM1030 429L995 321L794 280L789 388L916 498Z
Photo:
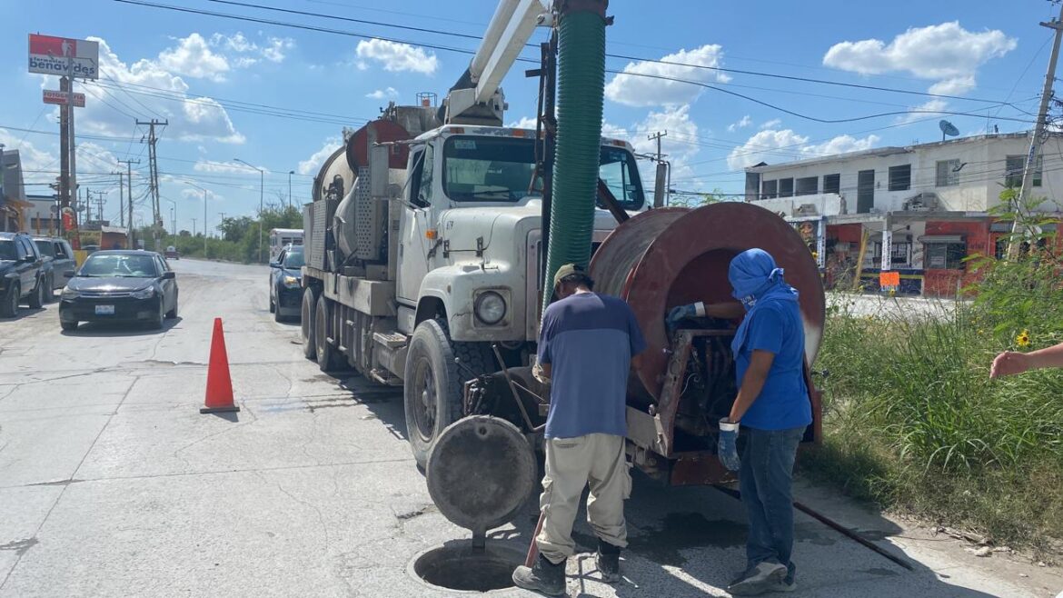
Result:
M972 282L966 258L1005 250L1011 226L992 211L1020 185L1029 144L1027 133L991 134L762 163L746 168L745 198L807 236L828 285L877 288L884 268L899 272L901 293L955 296ZM1036 164L1032 196L1059 220L1060 135Z

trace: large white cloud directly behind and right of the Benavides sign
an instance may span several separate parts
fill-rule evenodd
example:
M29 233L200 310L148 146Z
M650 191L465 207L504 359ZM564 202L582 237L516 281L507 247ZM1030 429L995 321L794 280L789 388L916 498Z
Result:
M209 98L188 97L188 84L175 72L151 60L140 60L128 65L119 60L106 40L99 37L90 39L100 44L100 70L106 79L83 87L89 98L86 106L78 113L80 131L123 137L131 134L139 136L132 130L133 115L141 119L157 117L168 120L169 124L164 131L165 139L226 144L242 144L246 140L236 131L223 106ZM50 85L54 85L50 78L41 77L41 86ZM122 109L122 112L107 105L100 98Z

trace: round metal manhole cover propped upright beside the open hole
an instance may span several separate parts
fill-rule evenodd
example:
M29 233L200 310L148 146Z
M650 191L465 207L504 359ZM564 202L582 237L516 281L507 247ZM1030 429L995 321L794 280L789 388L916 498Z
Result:
M537 475L521 431L486 415L459 419L443 430L425 467L428 494L439 512L479 537L512 520Z

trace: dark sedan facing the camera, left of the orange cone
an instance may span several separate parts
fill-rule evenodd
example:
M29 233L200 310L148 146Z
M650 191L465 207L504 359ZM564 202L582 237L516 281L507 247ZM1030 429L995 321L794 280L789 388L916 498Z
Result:
M178 317L178 280L154 251L107 250L89 255L63 289L60 326L83 321L147 322Z

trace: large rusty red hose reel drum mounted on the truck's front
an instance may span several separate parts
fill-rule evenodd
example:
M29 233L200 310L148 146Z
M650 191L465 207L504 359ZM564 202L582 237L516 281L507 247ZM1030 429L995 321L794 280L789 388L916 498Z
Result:
M617 227L594 253L590 275L596 289L627 301L642 328L648 349L636 373L654 399L669 364L668 311L694 301L733 301L727 267L755 247L771 253L800 293L811 364L826 316L823 284L800 235L773 212L740 202L651 210Z

